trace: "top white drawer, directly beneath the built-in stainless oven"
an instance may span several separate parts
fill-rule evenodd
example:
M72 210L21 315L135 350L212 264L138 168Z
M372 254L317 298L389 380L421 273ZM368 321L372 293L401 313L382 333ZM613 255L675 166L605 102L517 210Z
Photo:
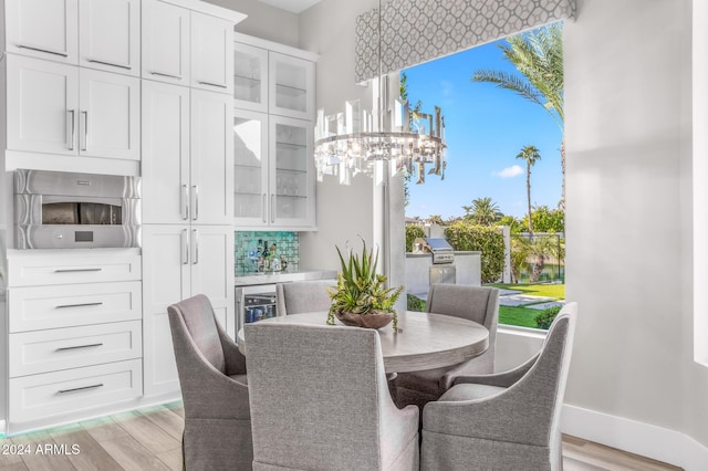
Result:
M98 283L140 279L140 255L133 249L13 251L8 255L10 286Z

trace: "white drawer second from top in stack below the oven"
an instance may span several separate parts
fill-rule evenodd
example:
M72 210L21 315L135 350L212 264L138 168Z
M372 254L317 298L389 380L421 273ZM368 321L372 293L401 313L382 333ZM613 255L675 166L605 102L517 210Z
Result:
M140 282L8 290L10 333L142 318Z

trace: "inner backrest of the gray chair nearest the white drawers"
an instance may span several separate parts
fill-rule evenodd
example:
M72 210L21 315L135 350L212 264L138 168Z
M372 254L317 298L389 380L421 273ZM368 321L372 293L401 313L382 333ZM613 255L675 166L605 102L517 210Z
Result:
M209 299L197 294L167 307L173 329L184 329L204 357L221 373L226 373L226 358L219 339L217 320ZM173 322L173 320L175 322ZM179 355L179 352L176 352ZM177 358L179 367L179 358Z

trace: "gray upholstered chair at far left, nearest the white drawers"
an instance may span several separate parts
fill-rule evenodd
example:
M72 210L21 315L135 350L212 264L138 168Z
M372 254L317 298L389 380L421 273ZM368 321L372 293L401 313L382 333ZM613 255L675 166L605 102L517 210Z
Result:
M185 405L187 470L250 470L253 461L246 358L198 294L167 307Z

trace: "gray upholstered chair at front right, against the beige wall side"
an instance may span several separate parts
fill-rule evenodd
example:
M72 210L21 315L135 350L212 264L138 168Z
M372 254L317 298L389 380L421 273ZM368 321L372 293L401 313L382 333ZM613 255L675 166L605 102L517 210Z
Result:
M561 470L559 418L577 306L566 304L541 350L507 373L455 378L423 410L420 469Z

